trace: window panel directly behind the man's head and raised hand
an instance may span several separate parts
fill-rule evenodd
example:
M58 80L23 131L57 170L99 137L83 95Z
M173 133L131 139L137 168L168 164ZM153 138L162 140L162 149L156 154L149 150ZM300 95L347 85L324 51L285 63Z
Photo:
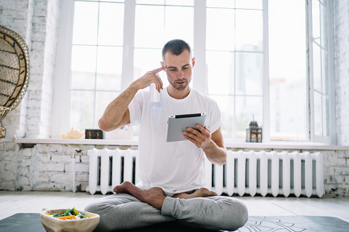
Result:
M147 20L145 20L147 18ZM160 68L163 45L182 38L194 49L194 1L136 1L134 25L134 79ZM159 73L164 86L169 82ZM192 84L192 83L191 83Z

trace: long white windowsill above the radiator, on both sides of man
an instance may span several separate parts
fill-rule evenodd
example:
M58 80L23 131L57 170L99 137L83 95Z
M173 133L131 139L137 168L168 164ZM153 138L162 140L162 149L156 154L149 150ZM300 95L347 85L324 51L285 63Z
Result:
M21 144L80 144L80 145L121 145L137 146L138 140L85 140L62 138L14 138ZM228 149L296 149L296 150L333 150L346 151L349 146L327 145L315 142L225 142Z

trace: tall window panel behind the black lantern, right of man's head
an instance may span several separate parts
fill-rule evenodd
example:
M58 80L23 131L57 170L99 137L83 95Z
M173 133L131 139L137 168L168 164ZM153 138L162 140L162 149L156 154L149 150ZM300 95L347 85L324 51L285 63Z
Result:
M206 1L207 94L223 112L225 138L263 123L262 1ZM222 36L224 35L224 36Z

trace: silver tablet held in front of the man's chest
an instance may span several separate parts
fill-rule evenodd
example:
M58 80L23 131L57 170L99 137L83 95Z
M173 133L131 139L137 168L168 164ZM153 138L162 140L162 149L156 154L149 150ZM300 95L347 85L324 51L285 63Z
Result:
M183 131L187 127L196 129L196 125L200 124L204 127L206 124L206 114L180 114L169 116L167 118L166 142L184 141Z

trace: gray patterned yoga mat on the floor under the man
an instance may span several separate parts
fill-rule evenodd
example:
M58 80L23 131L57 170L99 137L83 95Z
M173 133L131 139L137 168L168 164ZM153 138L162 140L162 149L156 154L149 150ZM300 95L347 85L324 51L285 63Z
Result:
M39 214L14 214L8 218L0 220L0 231L45 232L45 229L40 222ZM128 232L136 231L199 232L210 230L187 227L177 222L168 222L164 224L154 224L149 227L128 230ZM250 216L245 226L241 227L237 231L348 232L349 222L345 222L344 220L333 217L317 216Z

